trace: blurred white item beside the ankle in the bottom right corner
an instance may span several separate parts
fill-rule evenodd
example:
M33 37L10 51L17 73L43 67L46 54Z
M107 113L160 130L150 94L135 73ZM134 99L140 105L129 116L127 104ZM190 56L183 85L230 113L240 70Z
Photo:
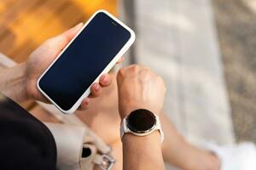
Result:
M250 142L218 146L204 144L221 161L221 170L256 170L256 146Z

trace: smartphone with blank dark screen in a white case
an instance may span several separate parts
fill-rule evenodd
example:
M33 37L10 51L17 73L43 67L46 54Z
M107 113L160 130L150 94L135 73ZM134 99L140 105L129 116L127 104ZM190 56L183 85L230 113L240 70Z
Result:
M135 33L108 11L90 17L78 35L38 79L38 90L61 112L70 114L90 94L135 41Z

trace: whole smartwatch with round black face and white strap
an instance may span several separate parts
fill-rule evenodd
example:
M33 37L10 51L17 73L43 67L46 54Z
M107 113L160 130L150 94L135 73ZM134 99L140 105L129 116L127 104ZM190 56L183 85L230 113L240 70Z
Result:
M164 140L164 133L161 128L159 116L151 111L138 109L132 111L129 116L125 116L121 122L120 137L125 133L132 133L137 136L147 136L154 131L160 132L160 141Z

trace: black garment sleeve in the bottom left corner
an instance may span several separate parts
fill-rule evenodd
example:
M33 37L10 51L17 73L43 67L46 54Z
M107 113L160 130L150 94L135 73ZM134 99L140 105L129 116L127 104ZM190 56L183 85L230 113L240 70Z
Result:
M0 169L53 170L55 140L49 129L0 94Z

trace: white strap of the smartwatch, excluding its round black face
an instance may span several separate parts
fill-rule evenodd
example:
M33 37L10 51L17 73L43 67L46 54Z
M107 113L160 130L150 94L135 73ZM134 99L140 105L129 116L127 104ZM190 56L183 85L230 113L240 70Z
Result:
M164 141L164 138L165 138L165 134L164 132L162 131L162 127L161 127L161 123L160 123L160 118L159 116L157 115L154 115L155 116L155 119L156 119L156 124L154 126L154 129L152 129L150 132L148 133L135 133L135 132L132 132L129 127L127 127L127 124L126 124L126 118L127 116L123 119L123 121L121 122L121 127L120 127L120 138L122 139L124 134L125 133L132 133L134 135L137 135L137 136L147 136L148 134L150 133L153 133L154 131L158 130L160 132L160 141L161 143Z

